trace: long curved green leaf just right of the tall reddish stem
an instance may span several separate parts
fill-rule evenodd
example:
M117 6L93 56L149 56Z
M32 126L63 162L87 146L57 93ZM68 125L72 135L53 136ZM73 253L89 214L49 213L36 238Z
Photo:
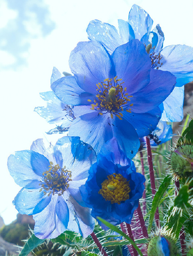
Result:
M153 219L154 219L154 215L156 213L156 209L159 205L159 202L161 201L163 194L166 192L166 190L168 189L168 186L171 182L171 176L168 175L163 179L162 184L159 186L158 191L156 192L154 198L153 198L153 202L152 202L152 206L151 206L151 211L150 211L150 219L149 219L149 226L147 231L150 232L151 227L153 225Z

